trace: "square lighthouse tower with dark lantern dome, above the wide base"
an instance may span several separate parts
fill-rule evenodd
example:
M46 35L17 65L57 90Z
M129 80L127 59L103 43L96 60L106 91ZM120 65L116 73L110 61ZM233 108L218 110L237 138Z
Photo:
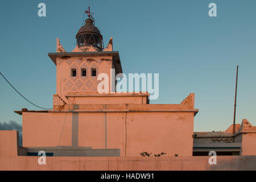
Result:
M119 53L113 51L112 38L104 48L101 32L94 25L92 16L89 17L77 32L77 45L72 52L65 51L57 38L56 52L48 53L56 65L57 88L53 97L55 108L60 105L59 99L66 104L108 104L104 100L92 102L91 99L86 99L88 96L106 96L97 92L97 86L101 82L97 79L100 73L108 75L109 93L115 92L115 77L122 73ZM144 97L145 103L147 96L148 94Z

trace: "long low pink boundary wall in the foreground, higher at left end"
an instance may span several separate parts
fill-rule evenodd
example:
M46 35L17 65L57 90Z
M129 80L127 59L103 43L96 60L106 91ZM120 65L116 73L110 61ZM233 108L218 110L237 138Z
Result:
M0 131L0 170L255 170L256 156L46 157L17 155L17 132Z

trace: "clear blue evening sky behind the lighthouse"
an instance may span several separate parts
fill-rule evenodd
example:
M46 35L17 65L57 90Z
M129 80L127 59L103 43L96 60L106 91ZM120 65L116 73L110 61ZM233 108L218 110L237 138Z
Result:
M46 17L38 4L46 3ZM217 5L217 17L208 5ZM179 104L195 93L194 131L224 131L233 123L236 66L240 65L237 123L256 125L256 1L91 0L105 46L113 37L124 73L159 73L159 98ZM0 6L0 72L35 104L52 107L56 66L47 56L56 38L75 47L88 1L3 0ZM22 123L14 110L29 104L0 78L0 122Z

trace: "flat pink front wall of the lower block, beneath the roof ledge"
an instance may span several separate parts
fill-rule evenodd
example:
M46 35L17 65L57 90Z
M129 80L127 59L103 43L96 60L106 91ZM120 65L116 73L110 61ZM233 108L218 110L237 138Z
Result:
M192 156L193 114L79 113L79 146L120 148L121 156L139 156L143 151ZM71 142L72 113L23 113L24 147L71 146Z

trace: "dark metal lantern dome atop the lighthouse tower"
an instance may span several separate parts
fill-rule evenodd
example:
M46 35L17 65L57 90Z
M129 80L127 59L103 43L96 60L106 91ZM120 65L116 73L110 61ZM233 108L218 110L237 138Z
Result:
M79 47L93 46L100 51L103 48L103 40L100 30L93 24L92 19L86 19L76 35L77 45Z

